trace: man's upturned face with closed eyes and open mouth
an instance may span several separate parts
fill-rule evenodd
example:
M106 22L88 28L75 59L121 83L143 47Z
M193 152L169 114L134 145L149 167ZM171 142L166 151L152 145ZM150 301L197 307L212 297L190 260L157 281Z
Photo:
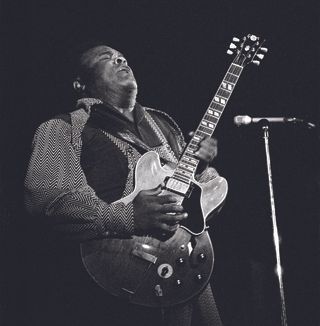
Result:
M89 72L86 89L90 96L105 99L108 93L137 89L127 60L108 46L101 45L86 51L81 57L81 65Z

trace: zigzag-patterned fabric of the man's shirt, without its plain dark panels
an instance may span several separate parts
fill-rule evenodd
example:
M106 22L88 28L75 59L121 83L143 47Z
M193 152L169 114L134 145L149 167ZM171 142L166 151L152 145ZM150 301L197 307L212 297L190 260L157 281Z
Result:
M90 116L90 107L97 103L101 102L82 99L78 102L78 109L71 112L70 123L57 117L39 126L33 139L25 178L27 211L31 215L44 216L56 231L80 241L134 232L132 203L114 204L99 198L95 189L88 184L81 166L81 133ZM144 109L152 128L162 140L162 145L153 150L163 159L176 163L185 145L179 127L165 113L160 113L171 121L174 128L180 152L177 154L170 149L161 129L152 119L153 110ZM141 154L133 146L135 140L130 136L104 134L128 161L128 175L122 193L124 197L134 188L134 168ZM199 181L206 182L216 175L215 169L208 168Z

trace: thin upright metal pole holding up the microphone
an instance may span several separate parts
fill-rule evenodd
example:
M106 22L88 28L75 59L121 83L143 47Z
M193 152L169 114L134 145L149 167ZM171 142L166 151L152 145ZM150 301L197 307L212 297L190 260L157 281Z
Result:
M276 219L276 209L274 203L273 185L272 185L272 173L271 173L271 160L269 151L269 126L268 121L263 120L263 138L266 151L266 161L268 170L268 180L269 180L269 193L270 193L270 205L271 205L271 218L272 218L272 230L273 230L273 243L276 252L276 274L278 276L279 290L280 290L280 300L281 300L281 324L282 326L287 326L287 314L286 314L286 303L284 297L283 281L282 281L282 267L280 259L280 245L279 245L279 233L277 227Z

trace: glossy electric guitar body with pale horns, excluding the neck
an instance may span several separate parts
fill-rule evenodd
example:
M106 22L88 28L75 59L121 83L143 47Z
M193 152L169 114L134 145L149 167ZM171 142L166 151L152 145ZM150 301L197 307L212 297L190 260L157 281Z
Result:
M134 191L118 202L129 203L141 190L170 178L173 171L172 166L161 165L156 152L144 154L136 165ZM194 180L191 198L183 204L189 218L170 237L132 236L83 243L81 255L88 273L109 293L134 304L165 307L189 300L210 279L213 248L205 231L206 218L222 204L226 193L224 178L206 184ZM184 196L172 194L182 203Z

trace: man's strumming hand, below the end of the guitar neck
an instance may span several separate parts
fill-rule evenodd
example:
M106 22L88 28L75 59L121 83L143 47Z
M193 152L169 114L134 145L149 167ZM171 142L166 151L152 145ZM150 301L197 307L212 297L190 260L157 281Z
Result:
M161 186L142 190L133 200L134 224L137 231L155 229L175 232L179 222L188 217L173 195L160 195Z

